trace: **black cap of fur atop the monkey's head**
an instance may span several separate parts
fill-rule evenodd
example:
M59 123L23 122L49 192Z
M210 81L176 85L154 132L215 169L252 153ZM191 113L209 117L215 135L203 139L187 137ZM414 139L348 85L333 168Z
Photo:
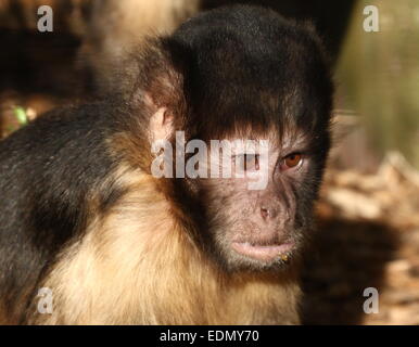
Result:
M274 11L211 11L183 24L170 41L187 56L190 127L206 139L247 126L282 133L289 124L327 124L332 82L321 46L314 33Z

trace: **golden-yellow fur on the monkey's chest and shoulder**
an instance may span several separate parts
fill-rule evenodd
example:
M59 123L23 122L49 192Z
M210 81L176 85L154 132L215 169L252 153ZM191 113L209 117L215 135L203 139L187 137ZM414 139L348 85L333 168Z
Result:
M295 275L228 274L198 249L154 179L120 168L129 187L85 237L64 249L40 286L53 313L34 324L299 323Z

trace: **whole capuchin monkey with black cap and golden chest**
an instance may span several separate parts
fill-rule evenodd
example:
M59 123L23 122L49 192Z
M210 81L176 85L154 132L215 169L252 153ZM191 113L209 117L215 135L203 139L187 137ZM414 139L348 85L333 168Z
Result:
M1 322L297 324L330 147L333 86L315 31L221 8L119 66L103 101L0 142ZM189 165L182 137L207 160ZM228 154L214 140L257 145ZM234 175L203 175L230 164ZM250 189L257 172L265 184Z

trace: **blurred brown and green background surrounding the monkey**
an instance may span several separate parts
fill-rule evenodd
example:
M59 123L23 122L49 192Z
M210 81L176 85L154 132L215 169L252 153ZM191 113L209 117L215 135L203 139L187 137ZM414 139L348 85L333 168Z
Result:
M312 21L337 82L334 147L302 277L306 324L419 324L419 1L0 0L0 137L52 107L100 98L147 35L228 3ZM53 31L37 30L38 7ZM378 9L367 33L364 9ZM380 294L363 310L364 290Z

